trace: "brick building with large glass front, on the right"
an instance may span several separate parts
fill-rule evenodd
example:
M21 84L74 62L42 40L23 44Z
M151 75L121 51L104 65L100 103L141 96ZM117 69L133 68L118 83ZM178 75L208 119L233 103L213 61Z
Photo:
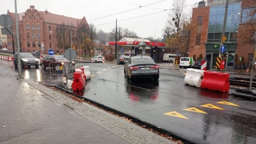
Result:
M192 21L197 23L198 28L197 33L191 35L196 38L191 38L189 57L193 57L194 54L198 57L202 54L203 58L211 61L213 67L220 52L225 4L226 0L202 1L193 9ZM246 12L252 9L256 9L256 0L229 0L225 27L227 38L224 43L226 50L221 54L226 61L226 68L233 68L235 54L238 58L244 56L247 65L252 62L255 40L245 43L245 38L242 36L243 29L249 27L246 24L248 18ZM255 15L252 17L256 18ZM249 36L247 33L246 35Z

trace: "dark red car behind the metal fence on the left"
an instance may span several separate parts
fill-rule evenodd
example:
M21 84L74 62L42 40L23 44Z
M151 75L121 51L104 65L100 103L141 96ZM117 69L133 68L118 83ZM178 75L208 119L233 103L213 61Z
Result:
M52 65L50 64L52 62ZM62 66L66 62L70 62L66 58L62 57L61 55L49 55L44 57L43 59L40 59L39 65L46 69L46 67L55 67L55 66Z

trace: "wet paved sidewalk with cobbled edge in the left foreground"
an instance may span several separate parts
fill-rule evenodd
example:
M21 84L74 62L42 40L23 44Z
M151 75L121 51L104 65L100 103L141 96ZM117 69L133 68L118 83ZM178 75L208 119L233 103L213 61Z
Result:
M0 143L174 143L0 67Z

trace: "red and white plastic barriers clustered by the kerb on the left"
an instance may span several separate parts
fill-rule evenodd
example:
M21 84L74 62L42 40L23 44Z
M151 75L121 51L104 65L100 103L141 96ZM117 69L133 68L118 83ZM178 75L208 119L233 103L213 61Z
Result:
M73 91L83 91L85 87L85 81L91 78L89 66L84 66L75 69L74 81L72 83Z

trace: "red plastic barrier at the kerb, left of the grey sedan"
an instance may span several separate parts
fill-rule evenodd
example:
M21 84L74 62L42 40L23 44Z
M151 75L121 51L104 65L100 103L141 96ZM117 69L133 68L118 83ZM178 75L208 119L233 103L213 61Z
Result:
M82 71L76 71L74 74L74 81L72 83L73 91L83 91L85 86L84 78L82 77Z

